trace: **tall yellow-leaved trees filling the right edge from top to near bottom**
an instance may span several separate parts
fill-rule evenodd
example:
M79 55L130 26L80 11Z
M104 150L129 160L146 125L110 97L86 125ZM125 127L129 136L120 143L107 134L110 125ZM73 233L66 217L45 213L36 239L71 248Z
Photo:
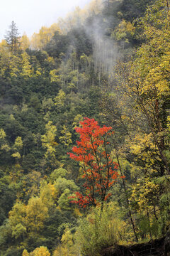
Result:
M147 233L152 238L152 235L157 236L158 230L164 235L166 225L169 226L169 218L165 218L168 216L169 199L164 206L159 202L169 198L170 175L167 126L170 29L166 1L154 1L139 26L145 43L137 49L133 61L119 65L117 70L118 124L125 131L119 152L138 166L130 207L136 206L138 213L143 214L148 223Z

